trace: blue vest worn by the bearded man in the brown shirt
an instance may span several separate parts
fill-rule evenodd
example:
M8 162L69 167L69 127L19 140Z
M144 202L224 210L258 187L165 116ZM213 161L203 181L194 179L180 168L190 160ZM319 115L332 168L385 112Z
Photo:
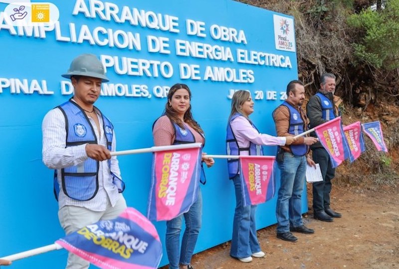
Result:
M303 133L305 131L305 123L303 122L300 112L287 101L284 101L281 105L288 107L290 111L290 125L288 127L288 133L292 135ZM308 146L305 144L290 145L289 147L292 154L295 156L303 156L308 152Z

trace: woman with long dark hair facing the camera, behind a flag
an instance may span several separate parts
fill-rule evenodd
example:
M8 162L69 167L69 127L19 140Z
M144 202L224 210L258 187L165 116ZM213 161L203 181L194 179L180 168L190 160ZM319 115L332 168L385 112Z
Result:
M203 131L191 113L190 100L191 91L187 85L175 84L172 86L168 93L165 111L153 126L155 146L183 143L202 143L203 145L205 143ZM205 153L202 153L202 155L205 155ZM202 162L207 167L214 164L212 158L202 157ZM197 201L194 202L187 213L166 222L166 252L170 269L193 269L190 262L200 232L201 215L202 196L199 190ZM183 216L186 222L186 230L180 248Z

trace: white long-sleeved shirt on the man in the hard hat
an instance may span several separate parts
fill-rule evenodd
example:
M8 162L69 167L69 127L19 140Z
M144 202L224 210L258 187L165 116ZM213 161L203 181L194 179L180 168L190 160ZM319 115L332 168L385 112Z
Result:
M91 125L93 126L95 136L99 145L107 147L107 140L103 130L103 120L100 111L95 111L98 119L100 130L90 116L88 117ZM42 156L43 163L50 169L57 169L58 183L60 185L60 191L58 196L59 208L65 205L74 205L85 207L93 211L104 211L107 205L107 199L114 206L119 200L122 194L118 192L118 188L112 183L112 175L108 167L108 160L99 162L98 171L98 192L93 199L88 201L79 201L72 199L65 195L62 189L61 182L61 169L69 166L75 166L89 158L86 153L86 145L66 147L66 130L65 130L65 117L61 110L54 108L50 110L43 119L42 122L42 133L43 133L43 148ZM112 138L112 149L115 151L116 139L115 132ZM111 158L111 169L114 174L121 178L119 164L116 156Z

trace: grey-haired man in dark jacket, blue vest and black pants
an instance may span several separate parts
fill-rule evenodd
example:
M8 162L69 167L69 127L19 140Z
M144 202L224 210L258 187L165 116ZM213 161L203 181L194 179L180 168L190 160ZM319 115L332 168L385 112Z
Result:
M310 128L318 126L340 116L338 105L341 98L334 95L335 76L331 73L323 74L320 78L320 89L307 104L307 116ZM313 132L312 136L316 137ZM331 165L330 156L320 142L311 147L313 160L320 165L323 181L313 182L313 213L314 218L321 221L333 221L341 214L330 208L331 179L335 176L335 168Z

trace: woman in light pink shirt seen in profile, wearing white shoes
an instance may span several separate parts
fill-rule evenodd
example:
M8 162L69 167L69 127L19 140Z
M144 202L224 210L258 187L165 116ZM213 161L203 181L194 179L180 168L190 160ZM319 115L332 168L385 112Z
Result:
M248 118L253 112L253 101L246 90L238 90L231 100L231 113L227 124L226 150L228 155L263 155L261 145L290 145L292 136L275 137L259 133ZM234 182L236 207L233 220L230 256L239 261L249 263L252 257L261 258L261 251L256 237L255 210L256 205L244 206L241 194L237 159L228 160L229 178Z

